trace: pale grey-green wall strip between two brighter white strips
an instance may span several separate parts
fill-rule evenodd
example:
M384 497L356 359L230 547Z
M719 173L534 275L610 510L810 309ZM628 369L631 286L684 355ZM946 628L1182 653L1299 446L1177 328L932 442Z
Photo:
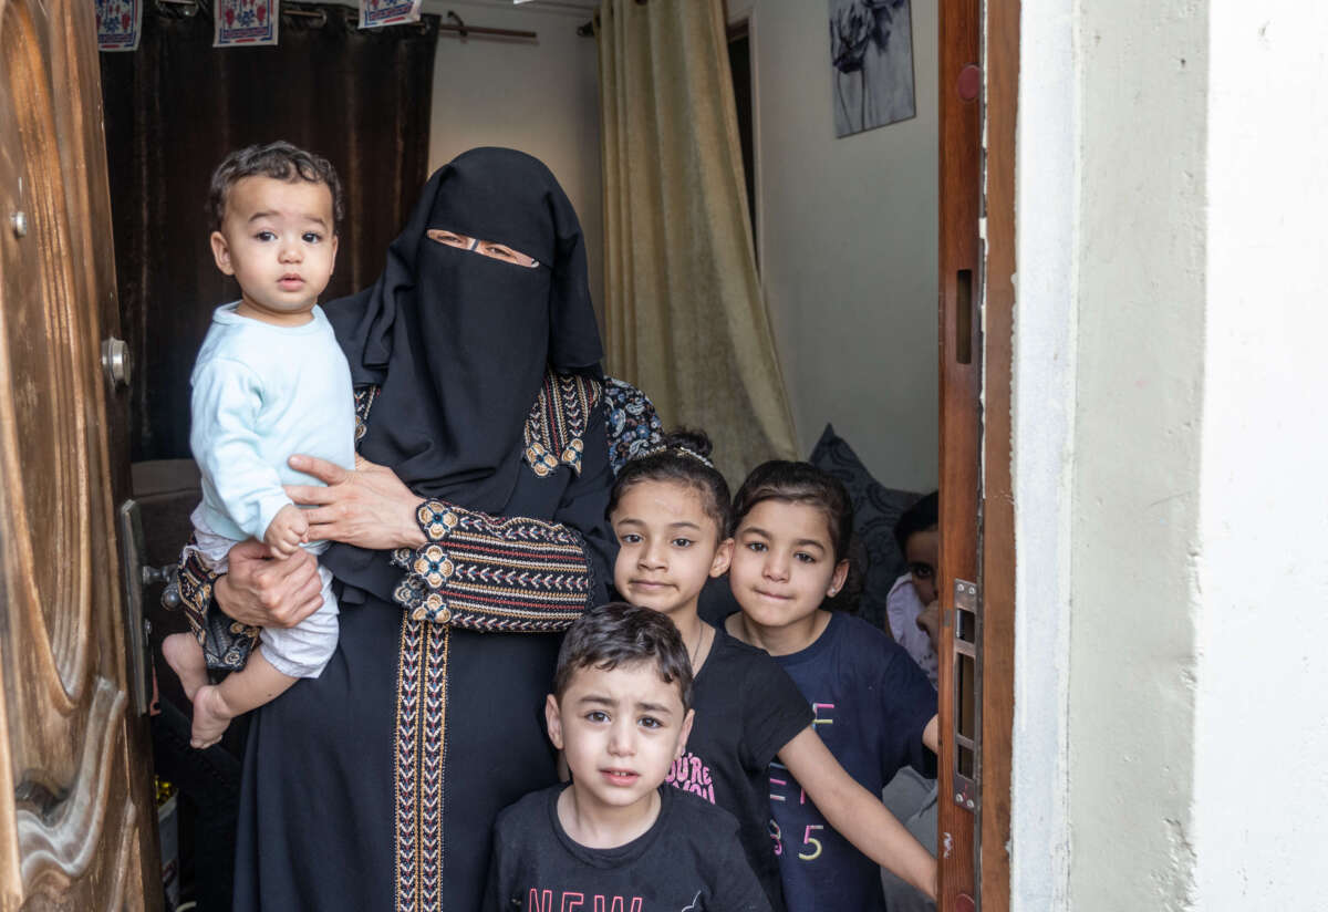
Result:
M1206 27L1195 0L1078 7L1076 909L1183 908L1191 892Z

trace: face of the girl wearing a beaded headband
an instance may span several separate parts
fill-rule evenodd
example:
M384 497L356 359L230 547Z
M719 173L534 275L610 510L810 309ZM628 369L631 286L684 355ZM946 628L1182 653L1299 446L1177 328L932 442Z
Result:
M675 623L696 613L705 580L729 567L733 542L720 539L691 485L637 482L618 499L610 519L619 544L614 587L633 605Z

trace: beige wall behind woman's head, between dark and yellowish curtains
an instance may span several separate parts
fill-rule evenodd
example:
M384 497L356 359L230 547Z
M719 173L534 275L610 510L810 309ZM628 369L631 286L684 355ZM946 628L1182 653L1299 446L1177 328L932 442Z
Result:
M475 146L509 146L543 161L580 216L591 295L603 315L599 64L595 40L576 35L590 13L510 3L424 1L424 11L444 21L449 9L470 25L538 32L539 38L438 37L430 171Z

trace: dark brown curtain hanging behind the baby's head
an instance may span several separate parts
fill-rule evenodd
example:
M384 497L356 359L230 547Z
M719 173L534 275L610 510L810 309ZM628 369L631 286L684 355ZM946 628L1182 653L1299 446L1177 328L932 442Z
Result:
M323 300L378 276L426 178L437 17L361 31L347 7L300 9L321 15L283 15L275 48L218 49L207 9L149 5L138 50L101 56L135 461L190 455L194 356L212 308L239 297L212 264L205 211L228 151L288 139L336 166L345 220Z

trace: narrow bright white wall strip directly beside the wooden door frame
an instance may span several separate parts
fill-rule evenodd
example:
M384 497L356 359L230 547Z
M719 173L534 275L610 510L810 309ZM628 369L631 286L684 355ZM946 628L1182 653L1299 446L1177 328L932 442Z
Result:
M1070 457L1074 421L1076 202L1072 9L1023 0L1016 146L1016 320L1011 390L1016 441L1015 737L1011 895L1015 908L1064 909L1069 891Z

